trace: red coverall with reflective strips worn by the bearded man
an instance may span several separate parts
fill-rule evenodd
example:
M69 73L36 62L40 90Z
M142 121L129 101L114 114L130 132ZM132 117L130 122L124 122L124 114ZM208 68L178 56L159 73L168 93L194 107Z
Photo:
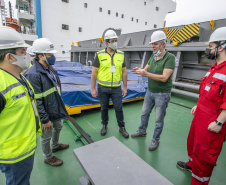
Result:
M187 139L192 185L208 184L224 139L225 125L219 133L208 130L222 109L226 109L226 61L216 63L208 70L199 88L200 96Z

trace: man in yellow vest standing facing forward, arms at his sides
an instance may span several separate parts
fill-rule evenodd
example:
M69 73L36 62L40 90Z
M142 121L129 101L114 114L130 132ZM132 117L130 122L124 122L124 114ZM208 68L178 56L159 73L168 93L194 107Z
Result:
M98 83L98 97L101 105L102 129L101 135L107 133L108 124L108 107L109 99L112 99L113 107L119 126L119 132L125 138L129 137L125 129L125 122L122 110L122 96L127 94L127 70L125 65L124 53L117 50L118 36L113 30L105 33L104 40L107 48L97 52L97 57L93 63L91 75L91 94L97 97L95 88L96 81ZM98 77L97 77L98 75ZM121 89L121 80L123 81L123 89Z

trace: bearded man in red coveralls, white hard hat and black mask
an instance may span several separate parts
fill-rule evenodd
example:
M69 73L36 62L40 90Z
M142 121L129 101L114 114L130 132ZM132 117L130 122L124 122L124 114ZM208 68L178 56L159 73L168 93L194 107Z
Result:
M199 99L187 139L189 161L177 166L192 172L191 184L208 184L226 138L226 27L210 36L207 58L216 63L202 77Z

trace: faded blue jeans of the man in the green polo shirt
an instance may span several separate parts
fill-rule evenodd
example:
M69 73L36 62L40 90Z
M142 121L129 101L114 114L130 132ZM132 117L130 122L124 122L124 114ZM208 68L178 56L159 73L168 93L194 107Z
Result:
M155 131L153 135L154 141L160 140L164 125L164 117L166 115L166 108L168 106L171 93L152 93L147 90L144 98L144 104L141 114L140 132L146 132L150 113L155 106Z

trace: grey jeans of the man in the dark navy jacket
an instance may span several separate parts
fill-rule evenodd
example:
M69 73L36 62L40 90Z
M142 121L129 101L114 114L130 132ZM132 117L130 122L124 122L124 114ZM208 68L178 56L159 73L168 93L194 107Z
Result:
M44 130L42 126L41 146L43 156L45 159L52 158L52 149L59 146L60 131L63 127L63 121L58 120L52 122L53 128L51 130ZM52 148L50 147L50 140L52 139Z

